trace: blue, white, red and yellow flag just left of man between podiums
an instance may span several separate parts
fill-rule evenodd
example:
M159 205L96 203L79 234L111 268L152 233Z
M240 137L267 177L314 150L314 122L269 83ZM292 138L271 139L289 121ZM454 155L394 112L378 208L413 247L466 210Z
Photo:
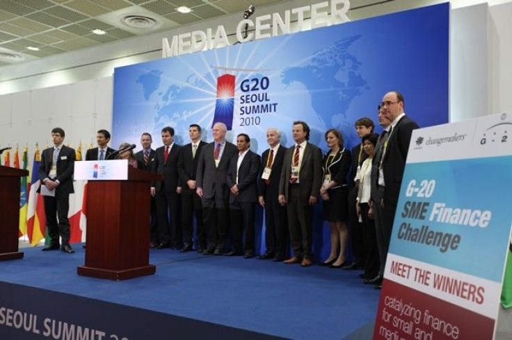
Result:
M29 235L29 241L32 246L37 246L46 235L46 216L45 203L42 195L37 191L41 185L39 180L39 167L41 164L41 154L38 144L35 144L34 162L32 164L29 204L27 207L26 233Z

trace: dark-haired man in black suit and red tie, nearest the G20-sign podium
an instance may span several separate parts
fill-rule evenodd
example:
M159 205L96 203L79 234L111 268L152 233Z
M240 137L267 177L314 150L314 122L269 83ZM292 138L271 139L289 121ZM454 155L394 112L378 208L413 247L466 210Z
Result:
M178 219L178 199L182 188L178 186L178 158L182 146L174 142L174 129L166 126L161 130L163 146L155 151L153 171L163 175L163 180L152 183L151 195L157 204L157 221L160 244L157 249L181 248L181 232ZM168 221L170 211L170 223Z

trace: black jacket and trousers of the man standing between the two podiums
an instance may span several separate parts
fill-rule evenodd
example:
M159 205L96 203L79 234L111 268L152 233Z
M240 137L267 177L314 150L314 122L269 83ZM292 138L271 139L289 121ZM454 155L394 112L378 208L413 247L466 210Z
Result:
M53 155L54 147L47 148L41 153L41 164L38 173L41 182L44 182L46 178L52 179L49 176L53 162ZM70 243L70 223L67 220L67 213L70 210L70 194L74 193L73 171L74 161L76 159L77 154L73 148L68 148L65 145L61 146L56 162L57 176L56 178L53 178L59 182L59 185L55 189L54 197L44 197L46 223L51 246L59 244L59 235L62 238L63 245Z

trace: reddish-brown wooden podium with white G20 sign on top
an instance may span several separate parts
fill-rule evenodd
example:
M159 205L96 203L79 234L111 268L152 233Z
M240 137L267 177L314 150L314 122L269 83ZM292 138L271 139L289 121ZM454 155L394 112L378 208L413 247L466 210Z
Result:
M88 163L101 162L123 161ZM87 166L86 162L80 163ZM125 180L87 183L86 263L77 267L79 275L127 280L156 272L155 266L149 264L150 182L161 176L129 165L125 167L128 169Z

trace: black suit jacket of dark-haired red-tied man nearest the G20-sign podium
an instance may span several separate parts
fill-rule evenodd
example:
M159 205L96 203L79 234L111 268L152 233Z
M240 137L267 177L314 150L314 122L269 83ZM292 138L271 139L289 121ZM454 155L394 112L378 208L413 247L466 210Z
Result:
M176 192L178 187L178 158L182 151L182 146L174 143L173 147L169 150L167 162L163 161L163 153L165 153L166 146L161 146L155 151L154 162L152 164L152 171L163 175L163 181L157 180L152 183L157 192L165 190L166 192ZM163 185L162 185L163 182Z

